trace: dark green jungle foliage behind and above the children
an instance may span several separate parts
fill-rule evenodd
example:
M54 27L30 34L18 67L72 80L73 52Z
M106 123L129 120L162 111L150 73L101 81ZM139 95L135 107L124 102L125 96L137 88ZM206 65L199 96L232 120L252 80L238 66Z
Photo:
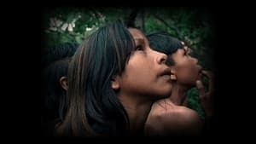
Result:
M42 11L41 53L66 43L81 43L100 26L118 19L131 21L145 33L165 31L185 42L192 56L206 70L215 72L216 49L215 17L211 9L188 7L60 7ZM207 81L207 79L205 79ZM206 88L207 89L207 88ZM189 90L188 107L205 118L196 89Z

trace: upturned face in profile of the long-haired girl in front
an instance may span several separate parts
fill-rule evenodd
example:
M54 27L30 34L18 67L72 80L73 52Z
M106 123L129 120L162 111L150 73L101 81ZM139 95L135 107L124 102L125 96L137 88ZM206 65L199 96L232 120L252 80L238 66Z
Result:
M119 92L134 96L152 95L152 100L171 95L171 70L165 65L166 55L151 49L148 39L139 30L129 28L129 32L136 47L131 52L125 71L118 76Z

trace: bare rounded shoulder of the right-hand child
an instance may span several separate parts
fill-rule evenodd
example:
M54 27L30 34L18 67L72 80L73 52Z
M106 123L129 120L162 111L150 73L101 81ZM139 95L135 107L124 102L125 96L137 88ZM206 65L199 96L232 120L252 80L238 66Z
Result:
M150 132L158 134L196 134L201 130L201 119L188 107L177 106L172 101L157 101L148 114L145 124Z

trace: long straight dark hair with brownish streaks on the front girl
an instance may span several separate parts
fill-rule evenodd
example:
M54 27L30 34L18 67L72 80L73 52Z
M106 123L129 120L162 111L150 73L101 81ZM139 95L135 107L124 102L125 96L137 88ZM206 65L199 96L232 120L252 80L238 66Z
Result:
M92 33L79 46L68 69L67 116L59 131L67 136L126 135L128 115L111 88L135 43L117 21Z

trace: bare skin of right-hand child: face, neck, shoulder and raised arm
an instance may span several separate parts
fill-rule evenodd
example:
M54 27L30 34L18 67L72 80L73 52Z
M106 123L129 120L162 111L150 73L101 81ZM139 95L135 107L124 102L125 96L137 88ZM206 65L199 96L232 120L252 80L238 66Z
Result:
M192 109L184 107L187 92L192 87L199 91L201 107L207 117L212 116L212 74L201 70L197 60L190 57L184 49L178 49L172 54L175 65L171 66L172 95L166 99L154 102L145 124L145 135L166 136L173 134L198 135L201 132L202 121ZM209 91L206 92L201 77L209 78Z

